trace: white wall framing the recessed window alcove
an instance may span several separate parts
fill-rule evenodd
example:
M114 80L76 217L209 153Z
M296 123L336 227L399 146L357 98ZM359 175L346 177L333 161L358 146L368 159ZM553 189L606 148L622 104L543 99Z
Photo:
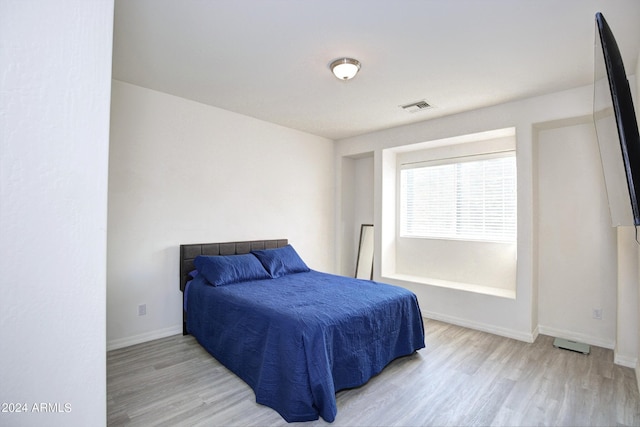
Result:
M383 149L512 126L516 128L519 215L516 298L500 298L400 280L387 281L413 290L419 298L423 313L428 317L532 340L537 334L538 326L538 236L533 216L536 208L533 148L537 143L534 127L540 123L590 115L592 92L590 86L582 87L338 141L338 165L344 157L375 153L374 222L379 228L385 209L388 209L388 206L383 205L381 197L382 186L387 185L381 175L385 162ZM336 173L339 176L341 171ZM339 208L348 211L352 207L345 203ZM382 239L384 234L384 230L377 230L377 260L380 260L385 251L394 250L392 244ZM343 244L340 236L337 244L339 247ZM585 259L585 262L591 261ZM381 279L379 262L374 267L374 276ZM572 306L570 310L582 311L583 307Z

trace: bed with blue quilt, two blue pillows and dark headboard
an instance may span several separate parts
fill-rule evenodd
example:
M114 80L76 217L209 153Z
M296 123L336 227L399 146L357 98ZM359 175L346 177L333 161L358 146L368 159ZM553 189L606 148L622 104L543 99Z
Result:
M424 347L416 296L309 269L286 239L180 246L184 333L286 421L333 422L336 392Z

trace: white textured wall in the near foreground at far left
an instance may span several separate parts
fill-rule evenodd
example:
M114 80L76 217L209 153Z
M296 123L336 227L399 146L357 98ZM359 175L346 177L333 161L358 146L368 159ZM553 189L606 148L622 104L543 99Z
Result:
M113 0L0 2L0 425L106 423L112 31Z

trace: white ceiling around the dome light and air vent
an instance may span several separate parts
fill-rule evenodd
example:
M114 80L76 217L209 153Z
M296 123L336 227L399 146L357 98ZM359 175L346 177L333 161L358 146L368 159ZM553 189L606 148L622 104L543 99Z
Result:
M597 11L634 74L638 0L116 0L113 78L337 140L591 84Z

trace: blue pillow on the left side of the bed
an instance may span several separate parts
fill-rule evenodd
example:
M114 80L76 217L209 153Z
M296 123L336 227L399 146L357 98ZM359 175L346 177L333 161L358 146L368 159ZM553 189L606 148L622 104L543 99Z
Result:
M269 274L258 259L251 254L204 256L193 260L194 265L214 286L248 282L250 280L270 279Z

